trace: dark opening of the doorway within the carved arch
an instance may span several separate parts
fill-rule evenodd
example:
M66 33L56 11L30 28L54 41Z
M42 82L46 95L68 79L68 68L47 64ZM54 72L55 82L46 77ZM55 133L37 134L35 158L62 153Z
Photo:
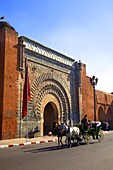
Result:
M58 121L58 110L53 102L47 103L44 109L43 135L53 132L53 125Z

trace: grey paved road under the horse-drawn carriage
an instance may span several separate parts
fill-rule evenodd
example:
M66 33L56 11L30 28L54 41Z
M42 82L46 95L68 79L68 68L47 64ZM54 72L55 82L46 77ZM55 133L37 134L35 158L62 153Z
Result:
M0 170L112 170L113 134L105 135L103 143L72 148L57 143L27 145L0 150Z

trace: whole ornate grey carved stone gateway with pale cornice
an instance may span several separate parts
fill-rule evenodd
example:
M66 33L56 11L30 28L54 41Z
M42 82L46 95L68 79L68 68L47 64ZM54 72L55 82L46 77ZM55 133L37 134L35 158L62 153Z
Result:
M72 108L75 83L70 83L75 77L75 68L72 66L74 60L28 38L20 37L19 40L20 70L23 69L24 75L24 60L27 58L30 77L28 127L30 130L38 126L39 135L46 135L53 131L55 122L68 123L72 113L76 113L76 107ZM26 118L22 123L23 134L25 124Z

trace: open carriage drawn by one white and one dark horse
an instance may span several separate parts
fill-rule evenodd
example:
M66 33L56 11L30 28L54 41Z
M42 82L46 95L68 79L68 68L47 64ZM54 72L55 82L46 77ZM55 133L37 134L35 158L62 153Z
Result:
M65 136L65 143L67 145L72 143L79 145L81 141L89 144L91 142L91 137L93 139L98 139L99 142L102 142L104 139L104 133L100 122L89 122L86 126L78 124L73 127L63 124L57 126L55 132L58 136L58 145L60 145L60 143L63 145L63 136Z

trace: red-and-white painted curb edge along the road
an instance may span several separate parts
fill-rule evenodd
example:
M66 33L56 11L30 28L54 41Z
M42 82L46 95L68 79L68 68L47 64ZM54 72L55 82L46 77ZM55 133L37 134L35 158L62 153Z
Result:
M49 142L57 142L57 139L49 139L49 140L42 140L42 141L36 141L36 142L25 142L25 143L18 143L18 144L8 144L8 145L0 145L0 149L3 148L11 148L16 146L26 146L26 145L32 145L32 144L42 144L42 143L49 143Z

